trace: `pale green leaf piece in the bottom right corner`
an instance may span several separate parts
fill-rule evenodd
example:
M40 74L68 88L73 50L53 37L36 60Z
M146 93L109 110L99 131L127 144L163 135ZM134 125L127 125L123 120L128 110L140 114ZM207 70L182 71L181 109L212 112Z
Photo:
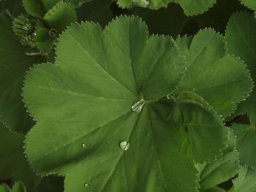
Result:
M247 166L241 167L238 177L233 180L232 192L250 192L256 191L256 171ZM230 191L230 192L231 192Z

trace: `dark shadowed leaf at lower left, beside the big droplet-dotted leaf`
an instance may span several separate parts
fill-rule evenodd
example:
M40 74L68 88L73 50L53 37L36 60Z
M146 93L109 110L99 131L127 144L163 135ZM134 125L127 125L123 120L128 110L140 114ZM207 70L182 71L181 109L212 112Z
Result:
M23 134L8 131L0 124L0 178L21 180L28 188L34 188L35 177L23 153Z

